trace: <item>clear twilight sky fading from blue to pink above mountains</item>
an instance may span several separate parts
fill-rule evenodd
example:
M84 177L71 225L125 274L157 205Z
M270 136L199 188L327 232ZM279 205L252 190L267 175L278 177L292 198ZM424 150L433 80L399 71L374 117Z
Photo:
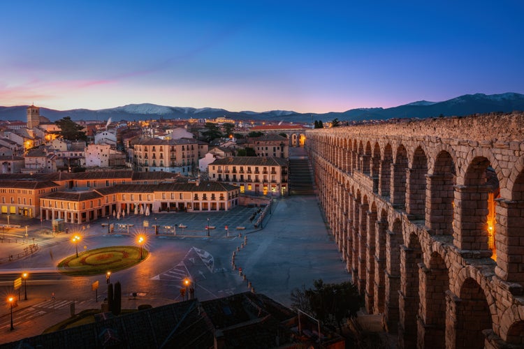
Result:
M524 94L524 1L0 2L0 105L343 112Z

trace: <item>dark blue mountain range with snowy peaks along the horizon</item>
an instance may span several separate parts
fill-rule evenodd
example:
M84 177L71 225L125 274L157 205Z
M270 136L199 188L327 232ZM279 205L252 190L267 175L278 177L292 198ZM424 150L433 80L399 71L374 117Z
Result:
M0 107L2 120L26 120L27 105L15 107ZM271 110L268 112L229 112L224 109L193 107L168 107L150 103L130 104L101 110L73 109L52 110L40 108L40 114L51 121L63 117L73 120L105 121L110 117L117 120L148 120L148 119L214 119L227 117L235 120L267 120L285 122L312 122L313 120L331 121L335 118L340 121L385 120L392 118L426 118L439 116L464 116L487 112L513 112L524 110L524 94L467 94L443 102L417 101L398 107L372 107L351 109L345 112L298 113L289 110Z

